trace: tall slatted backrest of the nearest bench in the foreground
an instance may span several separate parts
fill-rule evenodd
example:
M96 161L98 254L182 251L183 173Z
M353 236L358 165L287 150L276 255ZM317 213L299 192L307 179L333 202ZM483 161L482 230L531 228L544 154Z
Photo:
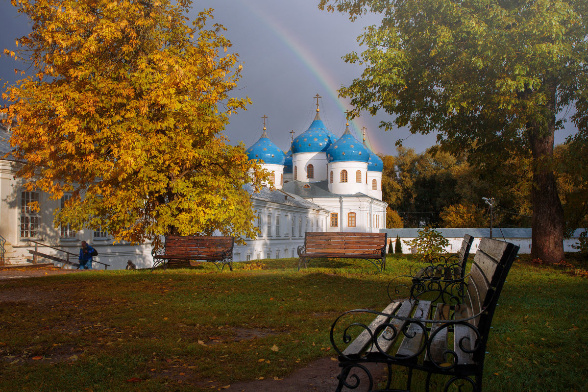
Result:
M472 315L482 312L470 323L479 331L483 344L486 344L496 303L517 252L519 247L515 244L483 237L474 256L465 303L470 306Z

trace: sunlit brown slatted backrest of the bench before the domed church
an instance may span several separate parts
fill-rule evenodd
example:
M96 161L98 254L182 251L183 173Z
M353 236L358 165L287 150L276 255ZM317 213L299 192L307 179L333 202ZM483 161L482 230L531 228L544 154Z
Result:
M307 253L381 254L386 251L386 233L306 232Z

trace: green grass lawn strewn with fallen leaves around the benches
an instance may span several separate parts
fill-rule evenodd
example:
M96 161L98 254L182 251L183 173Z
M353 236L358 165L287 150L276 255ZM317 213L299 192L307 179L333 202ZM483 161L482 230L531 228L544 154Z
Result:
M0 391L211 391L282 378L336 357L336 316L383 309L387 283L412 263L389 256L377 273L318 260L298 272L298 259L278 259L222 273L203 263L2 280ZM588 390L588 279L523 255L507 281L484 390Z

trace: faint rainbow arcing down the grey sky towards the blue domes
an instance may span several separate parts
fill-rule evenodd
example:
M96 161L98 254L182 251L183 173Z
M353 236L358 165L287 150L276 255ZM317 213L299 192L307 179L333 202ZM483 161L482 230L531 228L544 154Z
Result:
M329 97L336 103L336 105L339 106L339 109L342 113L349 109L341 102L339 96L337 95L337 90L339 89L340 83L337 83L335 79L330 76L329 72L327 72L327 70L316 61L312 53L310 53L308 49L306 49L305 46L294 37L293 34L290 34L288 31L286 31L285 28L283 28L283 26L274 22L270 15L265 14L265 12L260 9L252 8L252 6L248 4L247 1L242 1L241 4L246 6L246 8L248 8L249 11L259 19L259 22L268 26L268 28L272 30L273 33L275 33L279 40L282 41L285 46L296 55L296 58L298 58L299 61L310 71L316 81L319 82L323 88L325 88L325 91L328 93ZM350 130L355 133L356 138L358 140L362 140L363 134L360 129L363 128L364 124L361 122L361 119L353 119L350 121L349 125L351 126ZM374 133L372 133L372 136L374 136ZM369 139L366 139L366 145L370 150L375 151L372 148L372 143Z

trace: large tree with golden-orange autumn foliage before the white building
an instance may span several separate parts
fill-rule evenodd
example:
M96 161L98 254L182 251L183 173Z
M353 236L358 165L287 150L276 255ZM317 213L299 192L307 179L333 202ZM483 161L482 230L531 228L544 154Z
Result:
M102 227L132 243L164 234L255 236L248 193L263 178L222 131L238 55L189 0L12 0L31 20L17 40L29 76L4 97L18 175L71 199L55 225ZM252 173L252 176L248 175Z

